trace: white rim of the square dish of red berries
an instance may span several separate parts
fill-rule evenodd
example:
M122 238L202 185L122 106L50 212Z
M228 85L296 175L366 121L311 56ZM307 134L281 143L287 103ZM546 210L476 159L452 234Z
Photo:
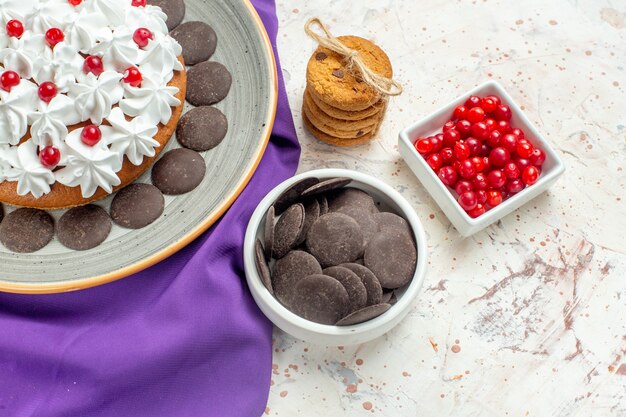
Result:
M498 94L500 94L500 98L502 99L502 101L511 108L511 111L513 112L513 114L516 114L517 117L519 117L523 125L520 127L523 128L524 130L532 132L533 136L536 138L537 142L541 146L541 149L546 153L546 155L549 155L549 157L554 160L554 167L548 172L545 172L545 171L542 172L537 182L533 184L532 186L524 188L522 191L515 194L513 197L510 197L509 199L503 201L498 206L490 210L487 210L483 215L478 216L476 218L472 218L465 212L465 210L461 208L461 206L456 201L456 199L454 198L450 190L448 190L448 187L443 182L441 182L441 180L439 179L435 171L432 170L432 168L428 165L426 160L417 152L417 150L415 150L413 146L413 141L410 138L410 134L415 134L416 131L419 132L420 128L428 124L428 122L432 119L436 119L446 113L451 114L452 110L454 110L456 106L464 103L469 96L480 95L480 93L483 90L488 89L489 87L493 87L495 90L497 90ZM434 183L437 184L436 187L445 191L446 199L448 200L448 202L455 208L457 212L461 214L461 217L463 218L463 220L470 226L491 224L497 221L498 219L502 218L504 215L507 214L507 209L509 207L513 205L521 206L522 204L529 201L526 198L526 196L530 193L532 187L542 187L550 183L551 181L555 180L556 178L561 176L563 172L565 172L565 164L561 160L561 157L553 149L550 143L543 137L543 135L537 130L537 128L533 125L533 123L528 119L526 114L522 111L522 109L515 102L515 100L513 100L513 98L509 95L509 93L506 92L506 90L500 85L500 83L494 80L489 80L469 90L468 92L458 96L456 99L452 100L448 104L440 107L438 110L434 111L433 113L422 118L418 122L403 129L400 132L400 138L402 141L405 142L406 145L408 145L408 147L412 150L412 152L414 152L414 155L417 156L416 160L428 172L428 176L430 177L430 179L434 181Z

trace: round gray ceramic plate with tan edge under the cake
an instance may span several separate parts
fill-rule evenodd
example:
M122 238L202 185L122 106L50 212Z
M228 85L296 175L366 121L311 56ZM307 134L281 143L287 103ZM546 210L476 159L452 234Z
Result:
M202 20L218 36L214 61L233 75L228 97L216 107L229 131L205 152L206 177L194 191L165 197L165 213L140 230L114 225L95 249L69 250L56 239L33 254L9 252L0 244L0 291L72 291L123 278L183 248L230 207L254 173L269 140L277 101L276 64L261 20L248 0L186 0L185 21ZM172 139L166 149L179 147ZM150 170L140 182L150 182ZM97 204L108 211L111 197ZM5 206L5 211L13 210ZM55 219L62 211L51 212Z

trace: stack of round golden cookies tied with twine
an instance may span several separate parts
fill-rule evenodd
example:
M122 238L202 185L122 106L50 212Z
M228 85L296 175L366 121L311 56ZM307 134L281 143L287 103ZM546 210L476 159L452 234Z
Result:
M387 54L367 39L337 38L359 53L375 73L391 79ZM387 98L347 68L348 60L325 47L318 47L307 66L307 88L302 104L304 125L317 139L338 146L354 146L372 139L385 115Z

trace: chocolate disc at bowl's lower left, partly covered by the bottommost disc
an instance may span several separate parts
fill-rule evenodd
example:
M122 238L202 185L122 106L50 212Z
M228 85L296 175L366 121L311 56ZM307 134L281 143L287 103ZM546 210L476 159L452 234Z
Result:
M289 297L298 281L308 275L321 273L322 267L312 255L299 250L289 252L274 264L272 287L276 298L289 306Z

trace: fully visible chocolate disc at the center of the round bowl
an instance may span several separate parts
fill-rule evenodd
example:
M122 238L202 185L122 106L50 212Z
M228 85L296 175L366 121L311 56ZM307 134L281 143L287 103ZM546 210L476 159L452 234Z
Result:
M323 267L352 262L363 253L363 232L352 217L328 213L311 226L306 247Z

